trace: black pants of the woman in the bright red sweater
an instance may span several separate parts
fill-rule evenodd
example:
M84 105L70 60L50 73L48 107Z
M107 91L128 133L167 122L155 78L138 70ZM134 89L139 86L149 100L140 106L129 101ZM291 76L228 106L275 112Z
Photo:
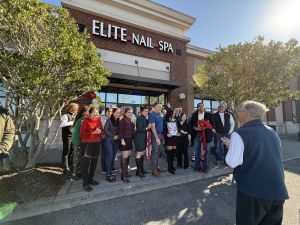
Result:
M100 153L100 142L82 143L81 175L83 185L88 185L93 179Z

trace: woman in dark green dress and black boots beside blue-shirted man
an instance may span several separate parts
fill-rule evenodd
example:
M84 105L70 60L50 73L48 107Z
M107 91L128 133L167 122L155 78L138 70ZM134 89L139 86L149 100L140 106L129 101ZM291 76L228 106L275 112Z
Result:
M147 130L150 128L147 117L149 110L146 107L141 107L141 115L136 120L136 132L134 136L134 144L136 150L136 175L144 178L147 172L144 170L144 152L147 145Z

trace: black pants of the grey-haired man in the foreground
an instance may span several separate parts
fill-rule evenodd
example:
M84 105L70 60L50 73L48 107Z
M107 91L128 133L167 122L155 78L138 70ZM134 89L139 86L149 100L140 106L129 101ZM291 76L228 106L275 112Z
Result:
M265 200L237 192L236 225L281 225L284 200Z

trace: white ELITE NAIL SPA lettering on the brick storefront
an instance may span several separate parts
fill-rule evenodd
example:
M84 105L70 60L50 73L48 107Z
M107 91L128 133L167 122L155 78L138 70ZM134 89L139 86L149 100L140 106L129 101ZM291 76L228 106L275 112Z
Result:
M127 42L126 28L112 24L105 25L104 22L100 22L98 20L93 20L92 34L110 39L113 38L115 40L120 39L123 42ZM151 37L145 37L144 35L139 35L135 33L132 33L131 35L132 44L137 44L146 48L154 48ZM173 53L172 44L162 40L158 42L158 50Z

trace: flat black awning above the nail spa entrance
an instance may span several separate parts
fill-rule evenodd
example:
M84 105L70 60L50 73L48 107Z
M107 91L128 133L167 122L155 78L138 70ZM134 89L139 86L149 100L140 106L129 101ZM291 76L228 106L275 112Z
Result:
M163 88L168 90L173 90L175 88L182 86L182 84L178 81L159 80L159 79L130 76L130 75L118 74L118 73L112 73L112 75L109 76L108 79L110 80L111 83L135 85L135 86L142 86L142 87Z

